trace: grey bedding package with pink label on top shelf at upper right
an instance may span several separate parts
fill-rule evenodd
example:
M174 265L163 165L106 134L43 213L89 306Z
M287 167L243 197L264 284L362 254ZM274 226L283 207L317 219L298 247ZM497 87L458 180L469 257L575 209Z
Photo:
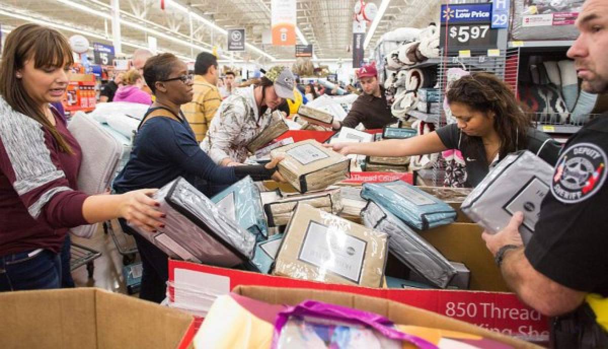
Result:
M574 25L584 0L513 1L511 40L575 40Z

